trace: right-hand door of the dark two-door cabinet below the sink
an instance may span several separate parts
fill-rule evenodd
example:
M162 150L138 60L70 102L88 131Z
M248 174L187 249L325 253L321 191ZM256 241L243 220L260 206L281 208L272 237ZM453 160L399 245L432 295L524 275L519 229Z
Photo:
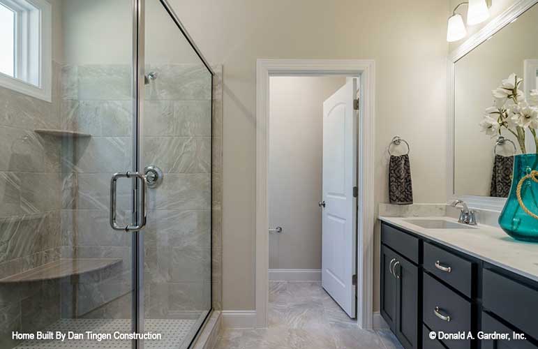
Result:
M419 268L397 255L394 274L396 274L394 333L405 349L415 349L418 348L419 339Z

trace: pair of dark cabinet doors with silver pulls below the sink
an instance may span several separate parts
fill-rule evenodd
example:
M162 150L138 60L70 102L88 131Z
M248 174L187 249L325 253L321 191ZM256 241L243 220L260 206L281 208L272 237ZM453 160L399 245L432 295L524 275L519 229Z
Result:
M400 239L393 234L390 230L388 235L385 232L391 246L410 241L408 237ZM410 247L406 244L400 246ZM410 251L414 251L413 248ZM419 348L419 267L399 252L387 245L382 246L380 311L403 347L416 349Z

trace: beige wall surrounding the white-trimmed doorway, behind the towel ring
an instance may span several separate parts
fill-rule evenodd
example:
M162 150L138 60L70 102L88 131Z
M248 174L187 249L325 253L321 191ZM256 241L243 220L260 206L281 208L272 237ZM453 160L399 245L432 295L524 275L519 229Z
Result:
M447 1L170 2L209 61L223 64L224 309L255 309L257 58L375 59L376 205L388 200L394 135L412 147L414 200L446 200ZM376 265L378 240L376 230Z

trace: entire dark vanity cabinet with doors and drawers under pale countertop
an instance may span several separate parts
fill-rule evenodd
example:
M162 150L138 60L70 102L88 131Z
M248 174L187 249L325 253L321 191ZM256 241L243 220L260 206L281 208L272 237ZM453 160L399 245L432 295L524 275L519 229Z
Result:
M538 349L536 281L384 222L380 272L380 313L406 349Z

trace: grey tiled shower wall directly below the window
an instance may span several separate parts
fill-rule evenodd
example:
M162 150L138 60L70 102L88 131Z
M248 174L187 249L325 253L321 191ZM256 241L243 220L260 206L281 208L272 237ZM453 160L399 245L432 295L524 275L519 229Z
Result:
M0 87L0 279L60 258L60 65L52 103ZM0 281L0 348L12 331L31 332L60 317L59 281Z

